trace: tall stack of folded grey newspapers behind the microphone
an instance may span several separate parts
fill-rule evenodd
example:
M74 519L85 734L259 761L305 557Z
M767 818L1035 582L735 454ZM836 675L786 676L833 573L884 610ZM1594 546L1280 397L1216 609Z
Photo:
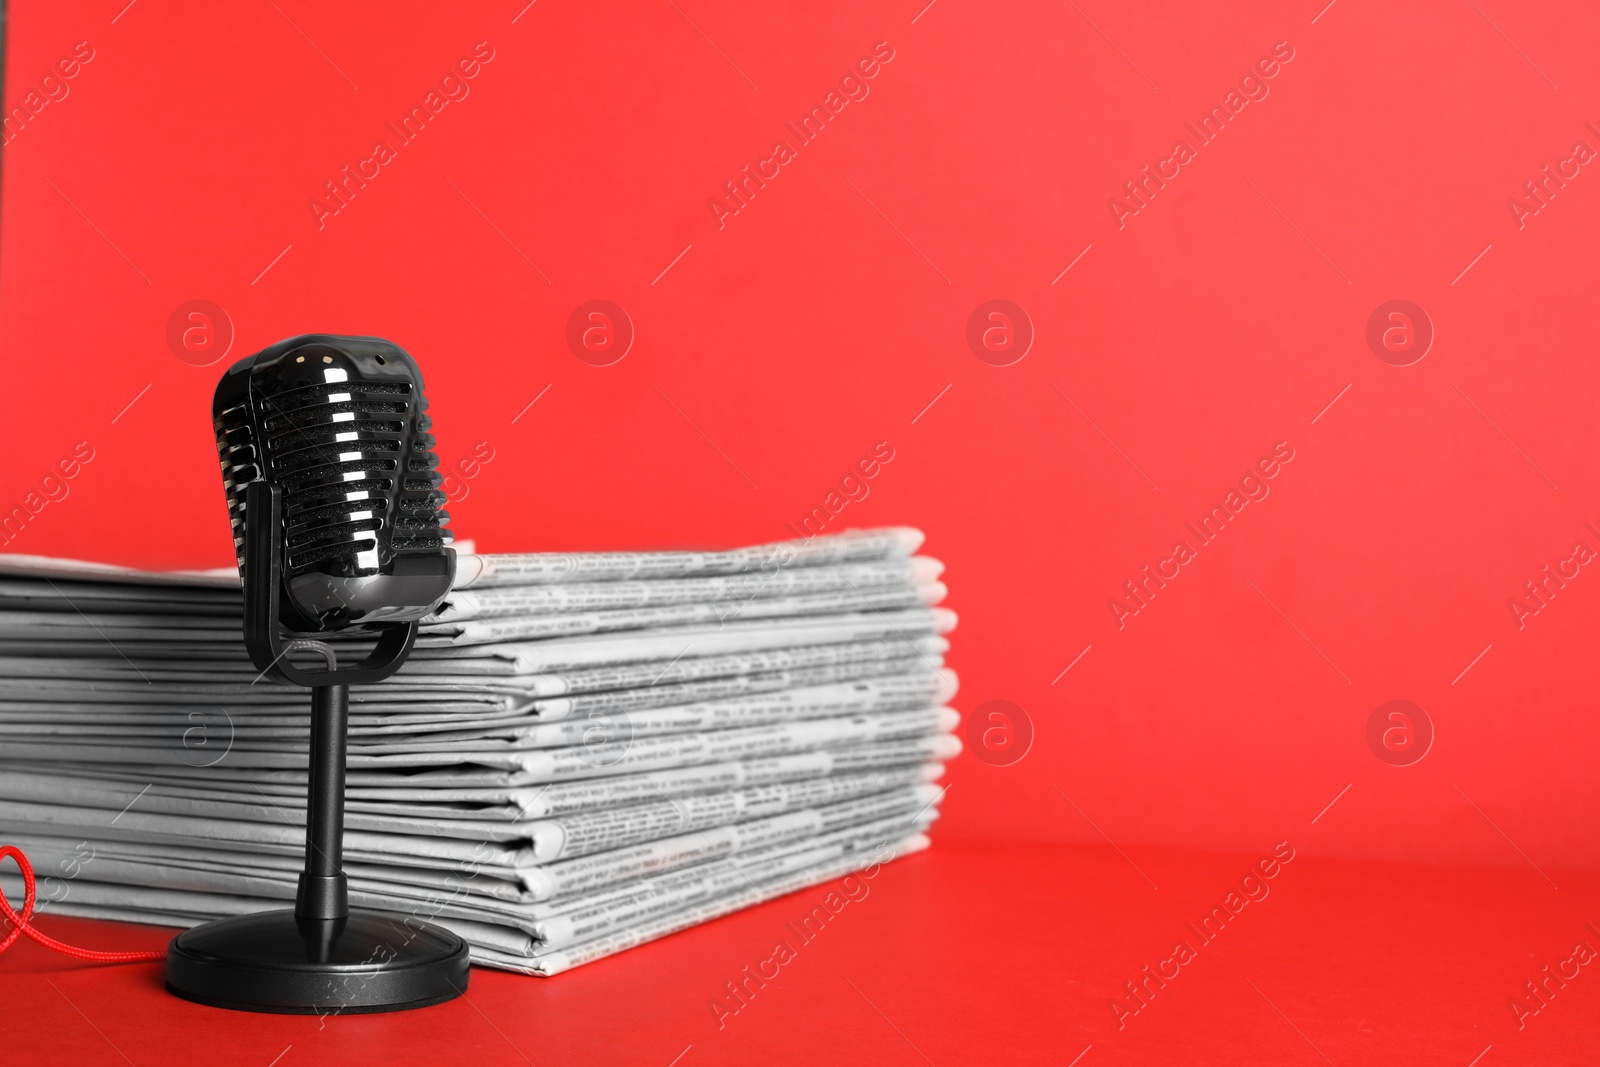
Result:
M461 553L410 662L350 691L350 904L557 974L926 848L960 742L920 544ZM42 913L293 901L309 699L240 627L232 569L0 555L0 843Z

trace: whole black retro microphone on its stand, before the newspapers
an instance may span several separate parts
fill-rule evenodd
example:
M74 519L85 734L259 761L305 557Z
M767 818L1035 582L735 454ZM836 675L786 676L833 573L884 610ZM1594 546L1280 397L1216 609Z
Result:
M310 688L306 869L293 910L173 937L166 987L179 997L338 1014L466 992L461 937L414 917L352 912L342 870L349 686L400 669L456 569L426 410L416 363L379 338L291 338L218 382L211 414L245 646L262 673ZM339 632L370 648L360 662L349 643L323 640ZM296 653L325 665L291 662Z

